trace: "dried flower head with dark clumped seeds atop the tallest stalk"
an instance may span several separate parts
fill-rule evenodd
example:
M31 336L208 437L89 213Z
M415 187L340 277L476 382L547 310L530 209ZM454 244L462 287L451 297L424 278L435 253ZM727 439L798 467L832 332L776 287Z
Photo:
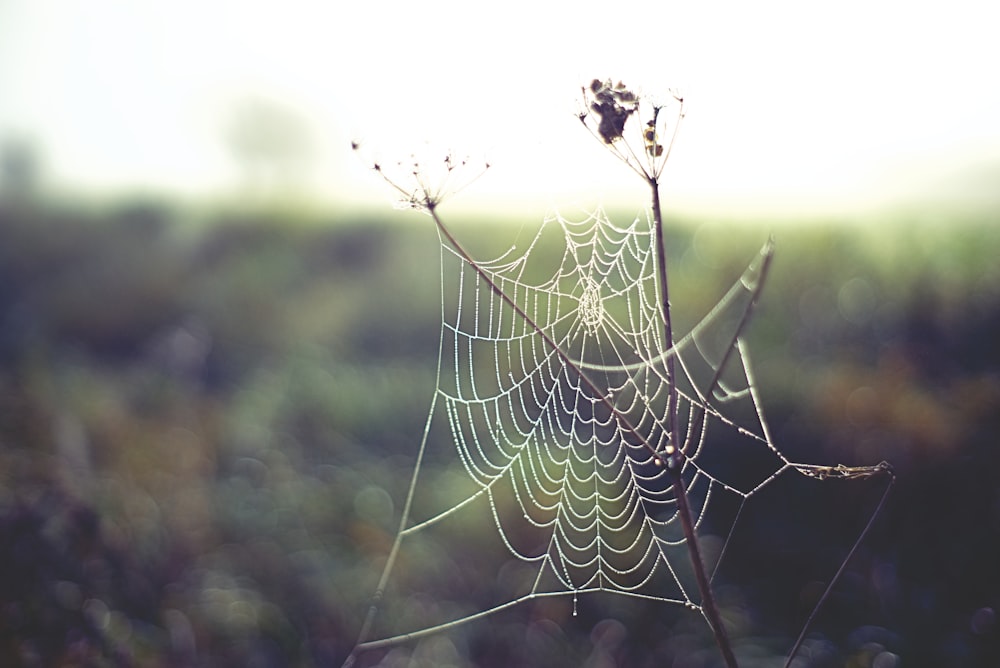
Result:
M634 172L658 180L684 117L684 100L671 91L669 103L654 102L611 79L594 79L583 89L583 98L585 110L579 117L584 126ZM673 117L662 113L671 104L677 106ZM638 131L629 132L632 126ZM664 137L669 137L666 145Z

